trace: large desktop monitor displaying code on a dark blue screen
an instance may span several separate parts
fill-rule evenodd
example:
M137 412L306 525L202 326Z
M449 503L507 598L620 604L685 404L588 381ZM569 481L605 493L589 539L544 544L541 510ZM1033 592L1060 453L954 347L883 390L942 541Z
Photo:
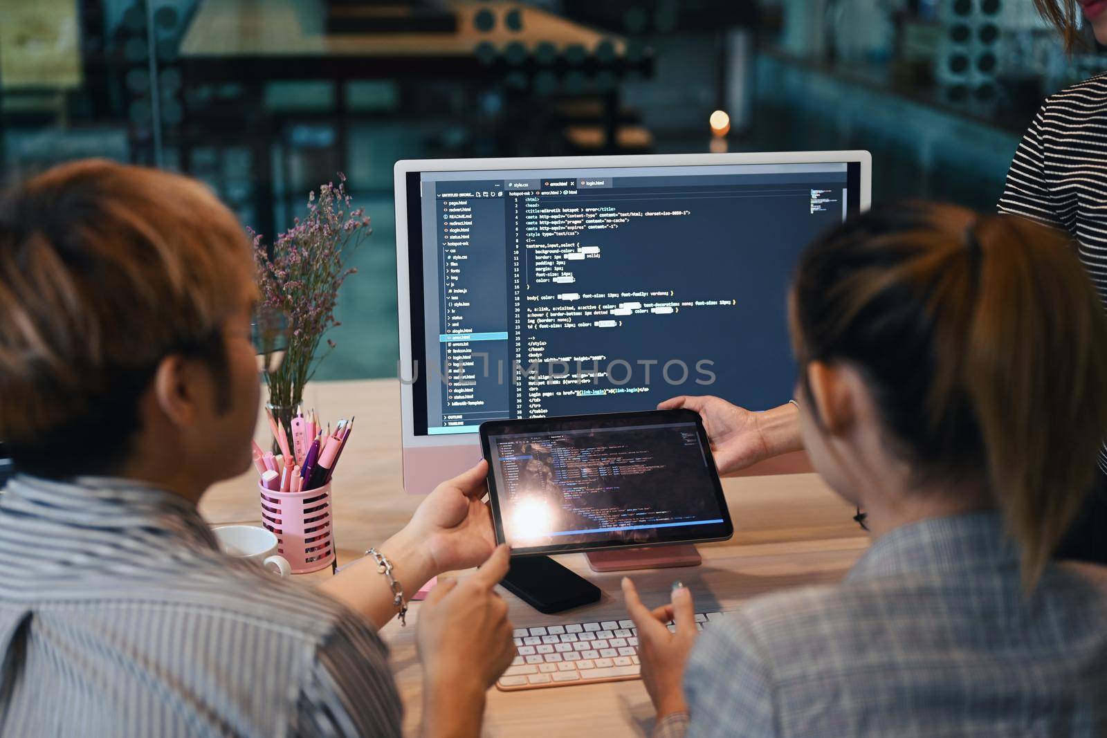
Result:
M404 488L484 420L787 401L797 258L870 179L859 150L397 162Z

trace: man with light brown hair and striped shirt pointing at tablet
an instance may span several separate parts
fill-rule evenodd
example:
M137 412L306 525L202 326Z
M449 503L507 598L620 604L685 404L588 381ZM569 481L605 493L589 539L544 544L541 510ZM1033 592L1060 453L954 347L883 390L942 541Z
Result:
M196 510L250 464L256 299L242 229L195 180L93 160L0 198L0 735L400 735L376 565L279 580ZM406 593L487 560L423 605L426 735L476 735L514 656L484 476L377 545Z

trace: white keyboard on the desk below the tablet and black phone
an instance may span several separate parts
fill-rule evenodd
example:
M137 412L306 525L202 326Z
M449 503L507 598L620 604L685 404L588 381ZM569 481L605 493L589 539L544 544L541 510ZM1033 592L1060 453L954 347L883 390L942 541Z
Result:
M696 628L722 615L696 613ZM515 647L519 654L496 682L504 692L639 677L638 628L630 620L517 627Z

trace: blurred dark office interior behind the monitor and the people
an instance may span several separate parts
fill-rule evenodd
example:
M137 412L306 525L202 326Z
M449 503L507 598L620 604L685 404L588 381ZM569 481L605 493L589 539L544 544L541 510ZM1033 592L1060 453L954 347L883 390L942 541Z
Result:
M1103 51L1031 0L0 0L0 173L185 171L267 236L345 173L374 233L318 376L393 376L399 158L867 148L873 199L989 210Z

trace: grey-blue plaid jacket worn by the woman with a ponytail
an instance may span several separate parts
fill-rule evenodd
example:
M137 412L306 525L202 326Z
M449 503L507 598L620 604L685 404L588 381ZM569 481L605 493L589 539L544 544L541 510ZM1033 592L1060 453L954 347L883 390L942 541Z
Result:
M689 662L684 736L1105 736L1107 569L1028 596L996 513L876 541L839 585L758 597Z

